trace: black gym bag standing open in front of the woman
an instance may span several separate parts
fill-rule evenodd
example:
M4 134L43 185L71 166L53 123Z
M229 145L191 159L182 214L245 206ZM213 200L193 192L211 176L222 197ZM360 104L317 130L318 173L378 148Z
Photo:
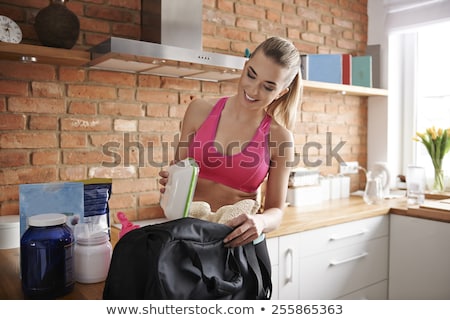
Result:
M114 248L103 299L270 299L266 242L224 247L231 231L181 218L126 233Z

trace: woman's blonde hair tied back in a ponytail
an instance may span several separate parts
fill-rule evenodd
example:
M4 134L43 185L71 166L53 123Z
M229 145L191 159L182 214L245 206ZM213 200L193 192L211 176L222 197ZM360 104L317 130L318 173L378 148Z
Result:
M300 73L300 53L288 40L271 37L261 42L253 54L262 51L266 57L273 59L280 66L288 69L286 84L289 91L267 106L266 112L278 123L294 131L297 109L301 103L303 82Z

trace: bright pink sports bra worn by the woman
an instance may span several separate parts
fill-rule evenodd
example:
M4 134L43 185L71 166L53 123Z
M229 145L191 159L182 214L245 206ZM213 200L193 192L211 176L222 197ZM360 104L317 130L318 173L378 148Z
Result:
M226 155L215 143L217 127L227 97L221 98L195 133L189 145L189 157L199 167L199 177L247 193L256 192L269 171L269 131L272 118L266 115L252 140L241 152ZM222 148L223 149L223 148Z

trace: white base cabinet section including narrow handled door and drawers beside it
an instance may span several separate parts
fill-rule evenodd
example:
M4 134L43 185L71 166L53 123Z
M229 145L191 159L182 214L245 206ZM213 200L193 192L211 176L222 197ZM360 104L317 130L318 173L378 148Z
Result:
M387 299L389 216L278 237L278 298Z

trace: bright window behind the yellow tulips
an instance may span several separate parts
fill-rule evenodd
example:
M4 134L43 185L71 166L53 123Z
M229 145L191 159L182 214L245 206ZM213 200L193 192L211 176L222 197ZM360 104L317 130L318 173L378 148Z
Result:
M425 167L428 185L434 169L420 143L412 142L415 133L426 128L450 128L450 21L410 27L389 36L389 90L394 92L394 107L400 106L403 172L408 164ZM390 106L391 107L391 106ZM443 168L450 187L450 154Z

